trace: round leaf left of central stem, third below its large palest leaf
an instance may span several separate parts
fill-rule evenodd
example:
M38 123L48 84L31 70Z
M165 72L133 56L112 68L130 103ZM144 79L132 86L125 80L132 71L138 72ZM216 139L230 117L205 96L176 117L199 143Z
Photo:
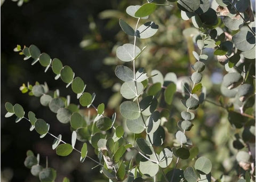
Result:
M136 103L125 101L120 105L120 113L124 118L134 120L140 117L140 110Z

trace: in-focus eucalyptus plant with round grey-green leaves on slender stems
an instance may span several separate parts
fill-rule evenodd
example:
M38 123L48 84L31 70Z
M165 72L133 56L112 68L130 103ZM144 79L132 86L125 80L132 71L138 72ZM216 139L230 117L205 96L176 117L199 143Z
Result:
M37 118L32 111L25 117L26 112L18 103L5 104L5 117L15 115L15 122L21 119L29 121L30 131L35 129L41 138L51 135L54 139L52 149L57 155L67 156L75 151L81 154L81 162L86 163L86 158L94 161L100 167L99 172L109 181L225 181L220 176L212 176L214 163L207 154L198 155L196 146L200 143L192 143L188 137L197 117L197 108L207 102L206 88L201 81L209 57L207 50L213 49L213 54L227 71L221 85L219 106L227 110L230 125L242 130L242 135L234 135L236 139L233 142L233 147L238 150L236 161L244 170L236 181L254 181L254 14L249 0L217 0L214 3L216 9L209 0L147 1L126 8L127 15L135 23L119 19L119 25L130 41L116 48L116 57L121 64L116 65L115 75L122 82L119 92L124 101L111 117L105 114L104 103L94 103L97 94L85 91L86 84L75 76L71 67L63 65L57 58L52 59L47 53L41 53L35 45L23 48L18 45L14 51L25 55L23 60L33 59L31 65L39 62L45 72L52 70L54 79L62 80L67 84L66 88L71 87L79 105L70 103L70 96L60 96L58 89L50 90L46 83L28 83L20 88L22 93L38 97L43 106L56 114L60 123L70 124L70 143L63 141L61 134L50 132L50 125L45 121L47 118ZM196 47L190 54L192 73L187 75L189 79L179 79L175 72L163 76L156 69L148 72L138 68L143 53L148 51L147 46L139 47L140 40L157 36L159 29L150 16L165 6L178 7L181 18L191 21L194 26L183 30L184 37L192 40ZM177 131L173 132L168 108L178 94L182 95L183 109L176 116L179 121ZM224 97L230 98L232 105L227 104ZM83 107L92 107L97 115L84 115L81 112ZM170 135L174 136L172 145L165 142ZM75 147L76 140L83 143L82 148ZM94 148L97 160L88 155L87 145ZM186 164L180 167L180 161ZM36 157L31 151L27 152L25 166L43 182L54 181L57 176L48 164L42 167L39 154ZM69 180L64 178L63 181Z

